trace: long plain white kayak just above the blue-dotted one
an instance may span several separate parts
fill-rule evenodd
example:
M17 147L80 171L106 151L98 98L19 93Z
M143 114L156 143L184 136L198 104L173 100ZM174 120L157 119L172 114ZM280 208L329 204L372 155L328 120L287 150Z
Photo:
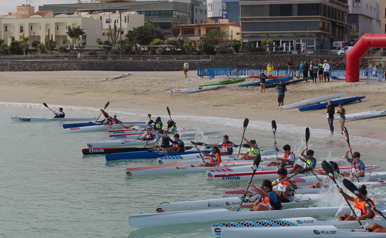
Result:
M379 209L381 210L381 209ZM274 211L229 211L228 209L204 209L195 211L172 211L170 213L146 213L129 215L129 224L135 228L168 226L190 223L226 222L235 220L275 219L288 217L335 216L350 213L348 207L307 207ZM268 236L269 237L269 236Z

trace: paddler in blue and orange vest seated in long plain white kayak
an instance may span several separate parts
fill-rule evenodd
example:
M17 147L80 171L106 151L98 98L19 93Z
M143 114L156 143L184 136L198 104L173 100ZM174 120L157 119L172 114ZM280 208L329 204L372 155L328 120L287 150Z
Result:
M248 185L253 187L259 194L259 198L253 204L239 205L239 208L248 208L251 211L272 211L281 210L281 202L276 192L272 191L272 182L268 179L264 180L261 187L258 189L252 181L248 181Z

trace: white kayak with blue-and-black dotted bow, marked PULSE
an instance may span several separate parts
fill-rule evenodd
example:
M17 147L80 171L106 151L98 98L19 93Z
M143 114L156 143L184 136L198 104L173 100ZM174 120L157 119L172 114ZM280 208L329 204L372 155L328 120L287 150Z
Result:
M381 226L386 226L386 220L381 218L369 219L362 221L365 226L377 223ZM272 220L255 220L255 221L242 221L242 222L222 222L216 223L211 226L211 232L214 235L221 235L223 230L232 228L248 229L248 228L270 228L270 227L301 227L301 226L335 226L338 229L359 229L361 226L356 220L353 221L320 221L313 217L292 217L286 219L272 219ZM255 236L257 237L257 236ZM287 237L283 235L282 237ZM318 236L317 236L318 237Z

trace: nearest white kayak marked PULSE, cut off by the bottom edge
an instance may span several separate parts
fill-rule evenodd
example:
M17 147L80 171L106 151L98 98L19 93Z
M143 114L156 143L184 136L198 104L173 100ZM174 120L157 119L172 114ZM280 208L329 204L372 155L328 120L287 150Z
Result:
M357 222L358 223L358 222ZM222 238L234 238L234 237L270 237L270 238L283 238L283 237L386 237L386 233L365 233L365 230L352 230L352 229L338 229L335 226L300 226L300 227L270 227L270 228L248 228L238 229L231 228L223 230L221 233Z

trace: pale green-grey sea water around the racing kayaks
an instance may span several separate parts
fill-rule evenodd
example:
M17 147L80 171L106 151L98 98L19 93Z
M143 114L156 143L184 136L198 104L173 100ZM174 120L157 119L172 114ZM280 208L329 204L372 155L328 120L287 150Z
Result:
M138 229L129 226L128 216L153 213L154 204L159 202L218 198L220 191L246 187L244 182L214 183L204 173L126 178L126 168L155 165L155 159L106 163L104 155L83 156L81 149L87 142L108 140L107 133L63 133L62 124L68 122L10 120L11 116L53 116L40 104L0 103L0 109L0 237L213 237L211 223ZM98 108L70 105L64 109L67 117L97 117L100 112ZM164 123L168 120L166 109L107 111L124 121L147 122L147 114L153 119L161 116ZM180 128L222 131L198 137L196 142L221 142L224 134L235 144L241 142L244 118L171 112ZM277 123L278 146L290 144L294 152L300 153L305 147L305 127L285 124L283 118L272 120ZM350 132L349 122L346 126ZM245 136L257 140L262 149L273 148L270 122L250 120ZM351 136L350 144L361 152L365 163L386 166L385 141ZM342 159L347 148L343 136L331 137L329 131L312 128L308 145L320 161ZM386 202L384 193L385 188L370 189L370 196L378 204ZM335 187L315 205L331 204L344 205Z

